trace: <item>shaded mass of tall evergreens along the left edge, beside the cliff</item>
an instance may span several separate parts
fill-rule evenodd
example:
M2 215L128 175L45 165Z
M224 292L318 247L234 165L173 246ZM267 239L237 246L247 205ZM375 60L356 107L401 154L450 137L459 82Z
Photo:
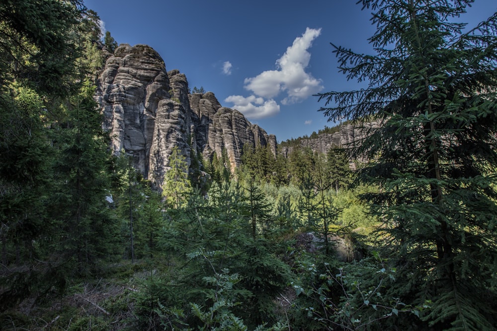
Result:
M0 4L1 303L62 293L117 253L81 1Z

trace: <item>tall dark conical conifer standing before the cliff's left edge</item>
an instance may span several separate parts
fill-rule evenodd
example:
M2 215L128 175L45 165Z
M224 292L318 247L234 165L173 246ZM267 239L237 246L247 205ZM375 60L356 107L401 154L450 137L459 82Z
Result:
M53 217L62 230L57 250L78 275L119 254L118 222L106 200L111 189L109 136L102 130L93 91L87 82L71 98L67 118L54 136L58 193Z

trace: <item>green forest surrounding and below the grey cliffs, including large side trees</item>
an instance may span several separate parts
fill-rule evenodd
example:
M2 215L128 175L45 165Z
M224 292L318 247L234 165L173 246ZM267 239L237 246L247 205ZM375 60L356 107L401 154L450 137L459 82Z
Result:
M497 13L454 20L472 2L358 1L375 54L331 52L368 87L316 97L381 123L361 141L174 149L157 190L102 130L98 14L2 0L0 329L496 330Z

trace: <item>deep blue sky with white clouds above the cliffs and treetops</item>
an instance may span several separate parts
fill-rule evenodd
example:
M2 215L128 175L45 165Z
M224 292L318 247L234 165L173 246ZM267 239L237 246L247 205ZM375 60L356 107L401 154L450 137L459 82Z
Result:
M373 54L370 12L356 0L84 0L118 42L146 44L190 89L213 92L278 142L334 123L317 93L366 87L338 72L334 45ZM470 24L497 11L476 0Z

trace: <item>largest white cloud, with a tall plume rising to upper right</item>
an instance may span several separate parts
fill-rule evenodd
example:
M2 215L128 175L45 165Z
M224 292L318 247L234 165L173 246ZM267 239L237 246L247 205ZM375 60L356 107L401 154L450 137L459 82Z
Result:
M276 61L277 70L263 71L255 77L246 78L245 88L264 98L274 98L280 92L286 92L283 104L300 102L321 91L322 80L305 71L311 59L307 50L320 34L321 29L307 28L302 37L295 38L292 46Z

